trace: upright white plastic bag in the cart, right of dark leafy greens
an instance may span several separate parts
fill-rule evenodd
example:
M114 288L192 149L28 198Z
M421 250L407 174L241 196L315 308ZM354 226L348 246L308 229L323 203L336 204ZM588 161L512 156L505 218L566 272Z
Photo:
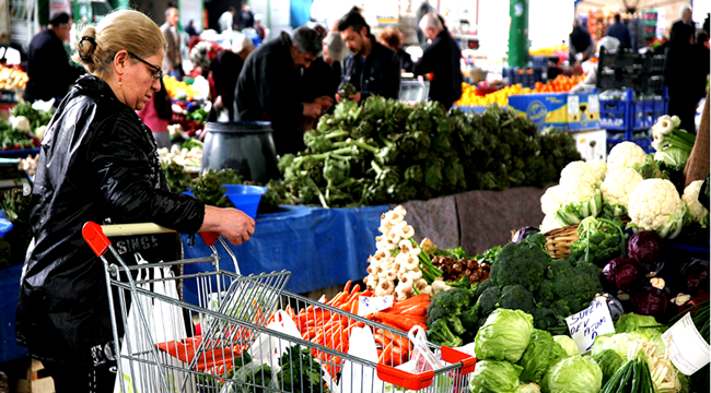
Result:
M369 326L354 327L351 331L348 355L363 360L377 362L377 348L375 338ZM382 393L383 381L377 378L374 368L363 367L361 364L343 361L340 378L340 393Z

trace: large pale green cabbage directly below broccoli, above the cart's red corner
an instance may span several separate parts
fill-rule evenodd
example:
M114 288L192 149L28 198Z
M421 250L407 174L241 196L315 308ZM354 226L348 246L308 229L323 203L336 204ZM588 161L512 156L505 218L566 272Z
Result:
M521 310L494 310L474 340L474 353L479 359L516 362L528 347L533 333L533 317Z

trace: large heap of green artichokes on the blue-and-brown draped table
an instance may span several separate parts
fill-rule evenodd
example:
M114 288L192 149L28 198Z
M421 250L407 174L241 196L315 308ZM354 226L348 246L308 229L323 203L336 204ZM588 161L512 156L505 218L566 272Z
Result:
M538 132L497 105L482 115L447 114L439 103L408 106L377 96L360 107L342 102L304 142L305 152L279 162L283 199L324 207L543 187L580 159L570 135Z

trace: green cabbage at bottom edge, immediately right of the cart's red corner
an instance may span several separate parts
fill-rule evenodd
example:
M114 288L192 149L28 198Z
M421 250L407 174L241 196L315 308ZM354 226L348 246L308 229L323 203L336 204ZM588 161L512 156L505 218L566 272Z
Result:
M508 361L481 360L471 373L471 393L513 393L522 368Z

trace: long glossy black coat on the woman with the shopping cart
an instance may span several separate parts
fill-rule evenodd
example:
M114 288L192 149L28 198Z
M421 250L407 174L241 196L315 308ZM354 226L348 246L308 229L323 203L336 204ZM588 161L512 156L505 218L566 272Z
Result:
M95 76L77 81L46 132L15 336L40 359L91 365L91 348L113 335L104 267L81 236L84 223L154 222L191 234L205 206L168 190L151 131Z

